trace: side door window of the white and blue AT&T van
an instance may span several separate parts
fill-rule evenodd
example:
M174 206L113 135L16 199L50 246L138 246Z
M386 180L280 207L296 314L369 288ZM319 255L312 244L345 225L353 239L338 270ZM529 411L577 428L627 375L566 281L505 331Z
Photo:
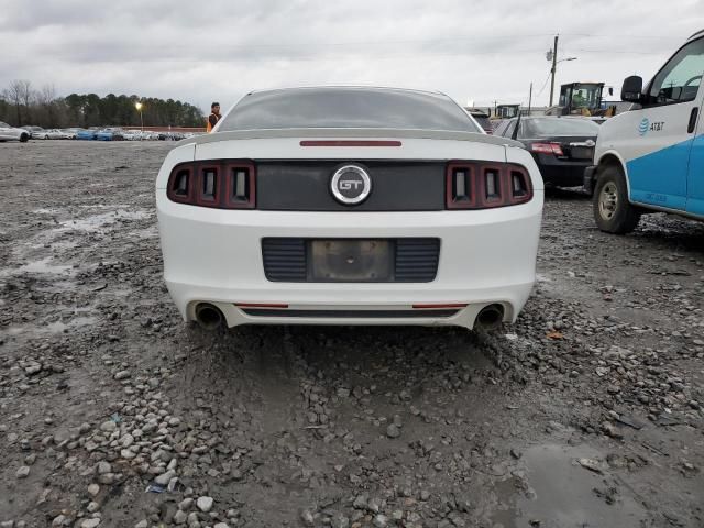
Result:
M704 38L690 42L656 75L650 86L653 105L673 105L696 98L704 74Z

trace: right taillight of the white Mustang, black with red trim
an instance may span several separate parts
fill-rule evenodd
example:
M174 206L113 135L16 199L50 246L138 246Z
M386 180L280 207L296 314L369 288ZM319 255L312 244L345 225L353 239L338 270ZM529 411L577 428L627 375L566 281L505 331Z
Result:
M509 163L450 162L446 173L448 209L488 209L532 198L528 170Z

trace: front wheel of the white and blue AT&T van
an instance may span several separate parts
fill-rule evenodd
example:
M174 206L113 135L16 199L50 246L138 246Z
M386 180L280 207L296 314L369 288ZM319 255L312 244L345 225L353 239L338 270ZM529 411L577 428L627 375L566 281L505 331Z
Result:
M630 233L640 220L640 211L628 201L626 178L614 165L600 170L592 205L596 226L607 233Z

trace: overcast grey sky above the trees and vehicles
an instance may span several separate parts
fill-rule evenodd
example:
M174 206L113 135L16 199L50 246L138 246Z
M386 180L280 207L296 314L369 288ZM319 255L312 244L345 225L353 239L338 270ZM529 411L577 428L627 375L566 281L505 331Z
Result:
M650 77L704 29L704 0L0 0L0 89L228 108L253 89L373 84L444 91L476 106L547 105L556 86ZM559 90L559 88L558 88Z

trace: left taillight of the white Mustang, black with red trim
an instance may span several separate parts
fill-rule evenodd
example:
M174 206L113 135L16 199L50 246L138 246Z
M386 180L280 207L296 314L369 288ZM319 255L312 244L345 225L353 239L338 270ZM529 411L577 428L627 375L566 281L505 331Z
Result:
M166 196L172 201L191 206L254 209L254 163L246 160L182 163L172 170Z

